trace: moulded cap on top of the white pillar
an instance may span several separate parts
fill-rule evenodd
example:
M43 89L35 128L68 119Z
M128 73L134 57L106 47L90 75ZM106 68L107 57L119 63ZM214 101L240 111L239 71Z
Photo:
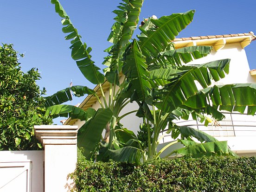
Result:
M78 127L74 125L36 125L36 138L44 145L77 144Z

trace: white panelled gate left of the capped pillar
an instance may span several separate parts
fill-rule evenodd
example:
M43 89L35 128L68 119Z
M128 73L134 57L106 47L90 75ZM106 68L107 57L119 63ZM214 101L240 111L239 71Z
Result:
M44 151L0 151L0 192L44 192Z

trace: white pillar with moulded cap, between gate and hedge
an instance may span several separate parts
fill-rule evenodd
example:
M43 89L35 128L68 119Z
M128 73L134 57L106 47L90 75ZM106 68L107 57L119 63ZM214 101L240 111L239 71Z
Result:
M68 174L77 163L77 126L34 126L45 148L45 192L68 192L75 187Z

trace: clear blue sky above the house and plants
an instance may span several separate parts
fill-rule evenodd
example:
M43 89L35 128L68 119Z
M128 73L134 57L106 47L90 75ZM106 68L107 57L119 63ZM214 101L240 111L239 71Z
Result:
M83 41L92 47L92 59L103 68L104 49L114 13L120 0L60 0ZM170 15L195 9L192 23L179 37L221 35L253 31L256 33L256 0L145 0L143 18ZM39 86L51 95L73 85L94 86L84 79L70 58L70 42L64 40L59 16L50 0L0 0L0 42L12 43L25 58L19 61L23 71L38 68ZM138 33L138 31L137 31ZM245 48L250 69L256 69L256 41ZM76 99L73 104L83 99ZM70 104L70 103L69 103ZM55 121L56 123L58 121Z

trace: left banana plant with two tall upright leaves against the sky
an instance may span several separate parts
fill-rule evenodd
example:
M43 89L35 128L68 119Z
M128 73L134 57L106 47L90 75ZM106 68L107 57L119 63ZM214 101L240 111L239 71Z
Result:
M103 70L104 73L94 64L90 55L92 48L83 43L81 35L60 2L51 0L51 3L54 4L56 13L62 18L62 31L67 33L65 39L70 40L71 43L71 58L75 60L83 76L91 83L96 84L99 91L86 86L72 86L60 90L52 96L45 97L45 105L48 107L45 116L63 116L85 121L78 131L78 147L83 147L83 155L87 159L93 159L94 151L100 141L108 141L110 143L108 149L111 149L115 129L121 128L117 121L119 122L126 115L136 112L131 111L119 116L121 110L129 103L129 96L132 94L132 92L124 91L127 89L127 84L121 82L119 76L122 73L122 54L130 44L129 40L138 25L143 0L123 0L118 6L118 10L114 11L115 23L108 38L113 45L105 50L109 55L103 60L103 64L106 66ZM105 95L102 88L102 84L106 82L109 83L109 95ZM78 107L63 104L72 100L71 92L73 96L77 97L95 96L101 108L84 111ZM106 129L105 136L102 138L104 129Z

